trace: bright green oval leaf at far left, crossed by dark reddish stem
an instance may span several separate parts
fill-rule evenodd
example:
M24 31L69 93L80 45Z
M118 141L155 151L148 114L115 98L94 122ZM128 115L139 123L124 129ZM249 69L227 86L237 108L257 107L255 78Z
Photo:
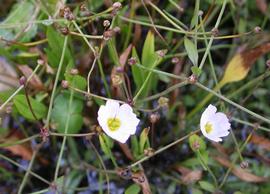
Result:
M45 118L47 114L47 107L42 104L41 102L33 99L32 97L29 97L33 112L35 113L37 119ZM32 112L30 111L30 108L27 103L27 99L25 95L19 94L13 98L13 103L18 110L18 112L29 120L35 120Z

